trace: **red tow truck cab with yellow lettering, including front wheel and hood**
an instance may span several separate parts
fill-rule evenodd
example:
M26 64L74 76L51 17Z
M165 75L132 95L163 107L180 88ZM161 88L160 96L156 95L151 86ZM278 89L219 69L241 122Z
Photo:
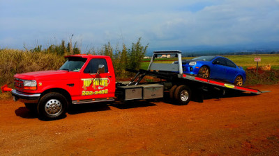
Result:
M37 110L47 119L65 114L70 103L114 101L115 75L112 60L104 55L68 55L57 71L16 74L15 101Z

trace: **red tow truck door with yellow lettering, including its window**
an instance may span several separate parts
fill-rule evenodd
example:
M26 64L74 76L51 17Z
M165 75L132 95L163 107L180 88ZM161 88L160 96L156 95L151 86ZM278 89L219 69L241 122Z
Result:
M98 72L99 67L103 71ZM92 58L81 73L82 99L114 97L115 78L105 58Z

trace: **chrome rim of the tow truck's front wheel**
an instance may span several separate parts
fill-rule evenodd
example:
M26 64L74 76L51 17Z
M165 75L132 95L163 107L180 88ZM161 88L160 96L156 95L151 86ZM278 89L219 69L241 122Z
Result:
M49 115L59 114L62 110L62 105L59 100L51 99L45 103L45 112Z

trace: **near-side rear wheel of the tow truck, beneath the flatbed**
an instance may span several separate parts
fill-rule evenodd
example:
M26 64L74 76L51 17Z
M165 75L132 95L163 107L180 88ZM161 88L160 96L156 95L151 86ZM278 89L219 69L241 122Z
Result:
M190 101L191 90L186 85L179 85L175 89L174 98L179 103L179 105L187 105Z

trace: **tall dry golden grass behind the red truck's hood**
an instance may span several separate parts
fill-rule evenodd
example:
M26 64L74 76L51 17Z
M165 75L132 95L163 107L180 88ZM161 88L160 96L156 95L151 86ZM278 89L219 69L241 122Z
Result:
M56 70L65 62L65 58L54 53L31 53L13 49L0 49L0 85L13 87L16 73Z

